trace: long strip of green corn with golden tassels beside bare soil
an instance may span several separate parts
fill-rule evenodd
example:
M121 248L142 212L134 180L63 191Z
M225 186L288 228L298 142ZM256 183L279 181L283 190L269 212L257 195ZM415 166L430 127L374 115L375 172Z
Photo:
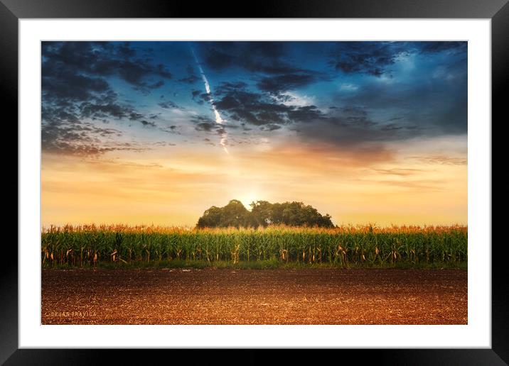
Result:
M272 260L339 267L460 264L467 261L466 226L342 226L306 228L190 229L161 226L63 226L43 228L41 261L95 266L98 262Z

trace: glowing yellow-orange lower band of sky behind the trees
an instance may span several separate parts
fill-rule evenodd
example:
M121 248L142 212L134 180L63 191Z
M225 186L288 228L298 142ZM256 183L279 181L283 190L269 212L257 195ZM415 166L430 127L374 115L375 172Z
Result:
M424 162L424 156L441 158ZM41 215L46 226L194 226L210 206L264 199L304 201L338 224L466 223L467 169L458 164L461 159L466 155L447 155L442 145L425 155L422 146L350 151L291 141L233 146L230 155L217 146L163 146L97 160L45 154Z

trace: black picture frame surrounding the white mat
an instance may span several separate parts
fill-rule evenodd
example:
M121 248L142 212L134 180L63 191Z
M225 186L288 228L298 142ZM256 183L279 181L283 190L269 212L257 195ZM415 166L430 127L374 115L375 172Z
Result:
M506 101L503 91L509 81L509 4L508 0L304 0L259 1L254 3L160 0L0 0L0 91L4 115L18 118L18 20L22 18L490 18L492 31L492 121L507 121L503 115ZM504 118L505 117L505 118ZM504 118L504 119L503 119ZM4 120L6 122L6 120ZM9 128L4 123L4 128ZM11 131L18 129L10 123ZM7 133L7 132L4 132ZM493 134L492 134L493 135ZM7 140L7 139L4 139ZM14 141L14 138L11 138ZM17 143L17 138L16 138ZM492 143L493 144L493 143ZM16 146L17 147L17 146ZM14 169L12 150L2 144L5 165ZM16 149L17 150L17 149ZM493 145L492 145L493 151ZM493 155L493 154L492 154ZM493 160L492 160L493 166ZM16 160L16 171L17 171ZM14 186L9 181L8 187ZM493 182L493 178L491 178ZM493 185L493 184L492 184ZM19 191L18 191L19 194ZM17 209L16 209L17 212ZM14 216L14 215L13 215ZM17 215L16 215L17 218ZM492 224L493 228L493 224ZM12 226L11 229L12 230ZM7 243L5 243L7 244ZM477 245L478 243L476 243ZM334 350L341 360L352 355L357 360L373 360L390 365L506 365L509 362L509 285L503 241L482 243L492 250L492 348L491 349L415 349L415 350ZM9 250L9 252L11 252ZM16 255L16 253L14 253ZM177 350L55 350L18 349L18 257L0 265L0 362L5 365L93 365L109 356L122 364L141 364L154 356ZM150 352L150 359L146 353ZM178 350L194 363L265 362L266 355L247 350L240 360L217 355L218 350ZM222 351L223 353L225 350ZM292 350L286 362L305 357L326 360L325 350ZM106 353L106 354L105 354ZM142 354L140 354L142 353ZM340 360L338 355L331 355ZM172 357L175 357L172 355ZM172 358L171 360L175 360ZM109 361L111 362L111 361Z

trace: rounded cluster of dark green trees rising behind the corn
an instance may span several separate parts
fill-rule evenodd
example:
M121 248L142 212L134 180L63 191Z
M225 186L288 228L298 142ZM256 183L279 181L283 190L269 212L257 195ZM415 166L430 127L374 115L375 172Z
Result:
M224 207L212 206L198 219L198 228L217 228L235 226L236 228L269 226L284 224L288 226L319 226L331 228L331 216L321 215L312 206L302 202L284 202L271 204L256 201L247 210L242 202L232 199Z

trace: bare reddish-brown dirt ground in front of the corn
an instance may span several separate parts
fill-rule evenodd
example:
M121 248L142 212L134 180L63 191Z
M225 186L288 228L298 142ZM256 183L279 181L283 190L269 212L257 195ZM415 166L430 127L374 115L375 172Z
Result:
M466 324L466 270L43 270L43 324Z

